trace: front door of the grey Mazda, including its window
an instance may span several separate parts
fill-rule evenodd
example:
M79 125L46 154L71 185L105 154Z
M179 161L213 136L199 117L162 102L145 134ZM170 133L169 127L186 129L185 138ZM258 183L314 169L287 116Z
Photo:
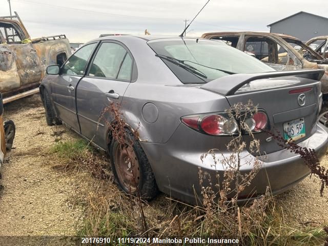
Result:
M76 51L61 67L52 88L52 98L57 116L75 131L80 132L76 115L75 88L85 75L88 61L97 43Z

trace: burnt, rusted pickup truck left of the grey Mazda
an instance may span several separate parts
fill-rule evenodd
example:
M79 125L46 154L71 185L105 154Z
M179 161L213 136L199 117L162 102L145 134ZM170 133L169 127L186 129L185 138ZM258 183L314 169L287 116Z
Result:
M16 12L0 17L0 92L4 104L37 93L47 66L63 64L70 54L65 35L31 39Z

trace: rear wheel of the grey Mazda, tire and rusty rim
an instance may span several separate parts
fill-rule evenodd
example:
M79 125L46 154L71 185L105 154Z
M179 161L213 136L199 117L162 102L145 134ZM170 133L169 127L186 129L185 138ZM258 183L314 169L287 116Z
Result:
M155 176L139 142L128 130L126 132L127 142L132 142L132 146L121 145L115 139L110 145L115 180L122 191L132 195L139 192L142 199L151 200L158 193Z

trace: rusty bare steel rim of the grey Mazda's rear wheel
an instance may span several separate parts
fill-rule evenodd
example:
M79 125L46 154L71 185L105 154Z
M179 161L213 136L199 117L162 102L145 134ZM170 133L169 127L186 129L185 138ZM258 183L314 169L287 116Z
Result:
M133 148L128 145L118 144L115 148L114 157L116 174L124 190L131 193L137 191L140 170Z

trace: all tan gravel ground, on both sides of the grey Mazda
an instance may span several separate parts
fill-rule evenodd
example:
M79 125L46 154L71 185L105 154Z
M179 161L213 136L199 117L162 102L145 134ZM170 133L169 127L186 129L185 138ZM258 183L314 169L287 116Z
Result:
M38 95L6 105L5 118L14 120L16 137L1 170L0 235L76 235L83 226L83 207L75 201L86 199L90 175L66 175L49 165L46 150L58 127L46 125ZM64 127L59 130L65 131L63 139L78 137ZM322 163L328 168L327 156ZM305 178L277 197L287 224L318 227L328 222L328 191L320 197L319 188L316 178Z

